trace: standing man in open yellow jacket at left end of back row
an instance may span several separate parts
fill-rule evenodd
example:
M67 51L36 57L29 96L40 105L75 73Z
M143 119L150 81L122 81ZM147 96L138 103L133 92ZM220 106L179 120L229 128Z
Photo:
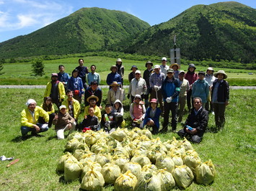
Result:
M61 106L61 102L65 98L65 88L63 83L58 80L58 74L51 74L51 81L48 82L45 89L45 97L50 97L52 102L56 104L57 107Z

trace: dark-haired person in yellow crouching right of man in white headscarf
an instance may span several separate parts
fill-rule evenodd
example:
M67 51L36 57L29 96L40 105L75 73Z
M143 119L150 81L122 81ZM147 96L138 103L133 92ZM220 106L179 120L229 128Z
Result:
M53 107L53 103L51 102L51 98L43 98L43 104L40 107L43 108L43 110L46 111L49 115L48 127L50 128L53 124L53 118L55 117L55 110ZM40 124L45 124L45 120L43 119L43 117L39 117L38 121Z

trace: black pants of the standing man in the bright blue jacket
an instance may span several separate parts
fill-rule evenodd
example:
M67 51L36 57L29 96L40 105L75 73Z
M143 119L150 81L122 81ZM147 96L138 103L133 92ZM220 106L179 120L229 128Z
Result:
M163 131L168 130L169 111L172 112L172 130L176 130L176 127L177 127L177 110L178 110L178 103L177 102L167 103L166 101L164 101Z

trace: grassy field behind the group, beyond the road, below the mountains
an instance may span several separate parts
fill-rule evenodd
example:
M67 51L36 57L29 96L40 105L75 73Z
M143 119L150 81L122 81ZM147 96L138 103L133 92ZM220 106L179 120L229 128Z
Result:
M45 75L42 77L35 77L32 75L30 63L12 63L4 64L4 75L0 75L0 85L45 85L50 80L50 74L58 72L58 65L65 65L66 73L71 74L72 70L78 66L79 57L69 57L58 60L44 60ZM160 59L160 58L159 58ZM97 66L97 73L100 73L101 84L105 85L107 74L110 73L110 66L115 65L115 58L112 57L84 57L84 65L90 66L92 64ZM154 65L161 64L161 62L154 62ZM146 70L145 62L135 60L124 60L125 66L125 85L128 85L128 74L131 73L131 66L137 65L138 70ZM196 66L197 71L206 71L207 67ZM183 66L181 70L187 70L187 65ZM256 70L238 70L229 68L214 68L215 71L225 70L228 75L230 85L256 85ZM248 75L253 73L253 75Z

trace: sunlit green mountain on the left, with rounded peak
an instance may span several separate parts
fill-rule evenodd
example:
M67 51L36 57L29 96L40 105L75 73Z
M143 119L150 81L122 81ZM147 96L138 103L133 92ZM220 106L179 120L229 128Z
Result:
M83 8L35 32L1 42L0 57L107 50L110 45L149 27L123 11Z

